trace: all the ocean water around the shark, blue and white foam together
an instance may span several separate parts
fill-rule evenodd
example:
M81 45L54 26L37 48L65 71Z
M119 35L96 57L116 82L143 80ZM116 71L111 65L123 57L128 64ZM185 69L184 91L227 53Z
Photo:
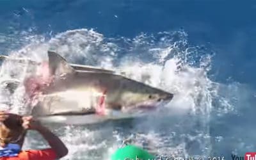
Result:
M124 70L175 94L145 118L90 126L48 124L67 144L63 159L108 159L125 138L162 157L232 159L256 150L256 3L253 1L0 1L0 53L36 61L49 49L70 63ZM0 81L28 66L4 62ZM145 79L147 77L147 79ZM22 85L2 108L24 113ZM25 148L47 145L30 132Z

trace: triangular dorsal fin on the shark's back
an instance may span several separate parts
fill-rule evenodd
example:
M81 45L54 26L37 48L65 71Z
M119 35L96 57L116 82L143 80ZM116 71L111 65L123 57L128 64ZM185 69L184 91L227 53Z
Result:
M67 61L60 54L48 51L49 70L54 76L62 76L63 74L72 74L75 72Z

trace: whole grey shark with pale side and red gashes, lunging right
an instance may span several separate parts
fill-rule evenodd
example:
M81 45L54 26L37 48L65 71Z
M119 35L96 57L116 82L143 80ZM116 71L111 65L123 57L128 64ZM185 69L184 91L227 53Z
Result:
M93 123L140 116L173 98L172 93L110 70L70 65L56 52L49 51L48 57L51 81L33 91L29 104L31 115L46 122L75 122L79 117ZM26 85L33 84L25 81Z

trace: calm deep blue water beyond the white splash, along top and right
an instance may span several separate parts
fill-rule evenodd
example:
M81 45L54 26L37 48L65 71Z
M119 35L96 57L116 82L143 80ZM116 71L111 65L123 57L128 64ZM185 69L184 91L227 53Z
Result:
M188 45L200 46L205 54L214 55L211 71L207 72L212 81L226 85L241 83L236 91L230 89L222 93L227 97L232 94L238 97L232 103L236 112L230 111L219 117L213 109L211 115L212 136L224 138L222 143L214 145L212 152L231 159L237 141L243 141L244 146L252 145L248 151L256 149L253 143L256 140L253 129L255 16L256 2L253 1L2 0L0 35L10 38L0 42L0 52L8 54L25 45L26 42L20 42L22 31L46 38L80 28L93 28L111 38L184 31L188 34ZM237 150L242 155L245 151L246 148Z

